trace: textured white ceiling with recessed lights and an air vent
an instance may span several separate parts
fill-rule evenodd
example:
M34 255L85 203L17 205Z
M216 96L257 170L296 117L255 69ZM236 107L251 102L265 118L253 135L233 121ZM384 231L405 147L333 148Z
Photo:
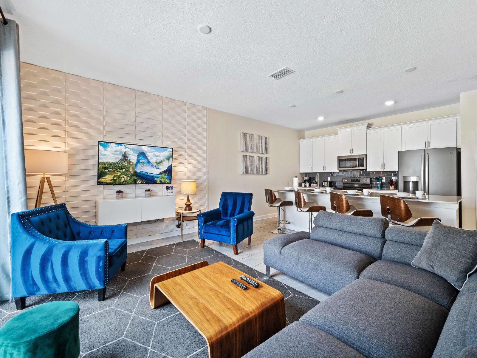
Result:
M475 0L1 5L20 24L21 61L297 129L457 103L477 88ZM295 73L268 77L283 66Z

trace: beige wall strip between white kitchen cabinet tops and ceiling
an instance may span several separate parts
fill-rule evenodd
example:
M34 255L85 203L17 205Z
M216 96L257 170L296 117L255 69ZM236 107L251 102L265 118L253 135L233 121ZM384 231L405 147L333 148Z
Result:
M390 126L393 124L414 122L422 119L437 118L444 116L453 116L460 113L460 105L443 105L441 107L434 107L429 109L423 109L421 111L408 112L400 115L380 117L375 119L369 119L367 121L359 121L355 123L348 123L339 126L331 126L327 128L309 130L305 132L305 138L327 136L329 134L336 134L336 128L353 126L355 124L370 123L374 127Z

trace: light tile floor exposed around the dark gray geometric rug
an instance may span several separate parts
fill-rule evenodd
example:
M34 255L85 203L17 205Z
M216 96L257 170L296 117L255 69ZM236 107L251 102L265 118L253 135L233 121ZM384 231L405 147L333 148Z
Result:
M253 267L256 270L259 270L262 273L265 273L265 264L263 263L263 243L271 238L278 236L279 234L270 233L270 229L274 229L277 226L277 219L270 218L270 219L263 219L259 221L253 222L253 232L252 235L252 242L250 245L247 244L247 240L244 240L239 243L239 254L237 256L234 255L232 245L226 244L223 242L211 242L206 241L206 245L211 247L221 253L225 253L226 255L233 257L235 260L238 260L246 265ZM290 230L290 232L294 232ZM184 240L194 239L199 241L197 232L193 232L190 234L184 234ZM128 253L132 253L135 251L141 251L145 249L151 249L157 246L163 246L170 244L172 242L180 242L180 235L168 237L165 239L157 239L147 242L136 243L132 245L128 245L127 251ZM284 284L288 284L291 287L310 295L311 297L316 298L317 300L323 301L329 297L328 294L311 287L308 284L304 284L301 281L290 277L287 274L283 274L280 271L270 269L270 274L273 278L280 280Z

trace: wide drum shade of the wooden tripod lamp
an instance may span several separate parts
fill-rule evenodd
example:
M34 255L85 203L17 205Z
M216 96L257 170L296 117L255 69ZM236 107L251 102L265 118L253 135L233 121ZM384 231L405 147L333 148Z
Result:
M25 150L25 172L27 174L67 174L68 153L54 150Z

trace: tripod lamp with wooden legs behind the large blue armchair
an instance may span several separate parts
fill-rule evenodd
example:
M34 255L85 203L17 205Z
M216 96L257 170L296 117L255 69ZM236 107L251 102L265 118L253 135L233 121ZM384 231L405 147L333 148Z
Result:
M56 195L50 177L46 174L67 174L68 173L68 153L54 150L26 149L25 150L25 172L27 174L43 174L40 178L38 193L36 195L35 208L41 207L41 197L45 180L48 183L52 198L55 204Z

